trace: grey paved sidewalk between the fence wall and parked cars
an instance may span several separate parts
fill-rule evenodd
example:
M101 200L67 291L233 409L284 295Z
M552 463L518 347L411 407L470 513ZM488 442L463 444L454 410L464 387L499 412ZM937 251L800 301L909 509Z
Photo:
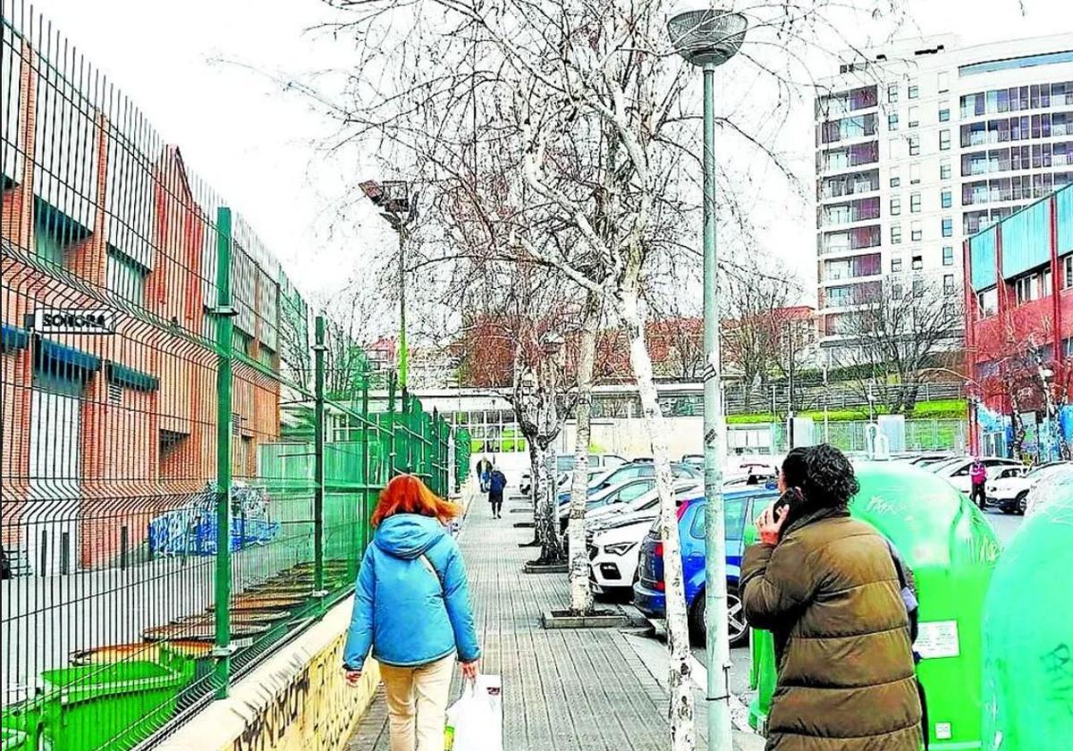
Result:
M540 614L569 605L565 574L523 574L534 548L523 499L489 518L474 499L459 535L469 570L482 671L503 677L504 751L653 751L667 748L666 694L627 634L615 629L545 631ZM457 695L456 688L453 695ZM703 711L703 704L697 706ZM387 751L383 690L349 751Z

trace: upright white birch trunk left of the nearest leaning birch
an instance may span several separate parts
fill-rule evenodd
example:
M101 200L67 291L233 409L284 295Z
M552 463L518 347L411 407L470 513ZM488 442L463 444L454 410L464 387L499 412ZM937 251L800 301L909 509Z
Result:
M577 436L574 442L574 473L570 485L570 612L576 616L592 610L589 584L589 556L585 546L585 504L588 501L589 437L592 417L592 370L596 363L597 335L600 327L600 296L589 291L585 298L585 319L577 354Z

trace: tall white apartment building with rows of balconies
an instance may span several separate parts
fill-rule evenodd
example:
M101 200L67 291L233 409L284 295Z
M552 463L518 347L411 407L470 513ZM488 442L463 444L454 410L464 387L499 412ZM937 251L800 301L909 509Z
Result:
M821 335L837 350L885 277L959 300L965 238L1073 182L1073 33L847 56L820 86L815 149Z

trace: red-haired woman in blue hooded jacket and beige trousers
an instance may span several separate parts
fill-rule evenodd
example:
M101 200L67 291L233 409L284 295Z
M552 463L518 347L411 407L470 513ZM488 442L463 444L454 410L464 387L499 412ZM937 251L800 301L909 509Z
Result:
M456 656L462 676L476 678L481 649L466 564L443 527L460 511L403 474L387 484L372 514L377 532L354 588L343 669L347 682L358 686L371 647L392 751L443 751Z

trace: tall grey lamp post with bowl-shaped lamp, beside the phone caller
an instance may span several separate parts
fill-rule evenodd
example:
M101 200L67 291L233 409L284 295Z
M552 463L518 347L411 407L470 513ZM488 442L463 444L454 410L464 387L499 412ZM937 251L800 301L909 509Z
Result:
M667 31L675 50L704 71L704 613L708 668L708 749L729 749L731 649L726 623L726 541L722 454L725 417L719 382L719 309L716 299L716 68L741 48L748 27L739 13L700 6L674 13Z

